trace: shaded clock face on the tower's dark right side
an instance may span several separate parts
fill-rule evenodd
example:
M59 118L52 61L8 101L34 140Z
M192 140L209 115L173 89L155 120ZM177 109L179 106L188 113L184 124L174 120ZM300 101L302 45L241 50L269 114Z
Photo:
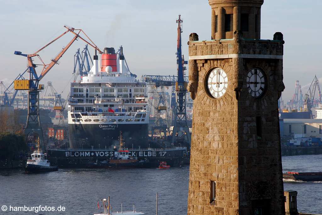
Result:
M247 74L246 84L247 90L252 97L260 97L261 95L263 95L266 87L264 73L258 68L251 69Z

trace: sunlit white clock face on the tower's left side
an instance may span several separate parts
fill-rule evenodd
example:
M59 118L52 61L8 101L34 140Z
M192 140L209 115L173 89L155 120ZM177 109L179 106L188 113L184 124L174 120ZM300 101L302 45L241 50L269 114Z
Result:
M220 98L226 93L228 77L225 71L215 68L208 74L207 90L214 98Z

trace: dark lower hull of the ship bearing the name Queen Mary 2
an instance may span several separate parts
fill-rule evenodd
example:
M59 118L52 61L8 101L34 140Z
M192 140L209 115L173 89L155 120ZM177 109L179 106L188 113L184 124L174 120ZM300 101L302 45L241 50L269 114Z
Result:
M68 124L71 149L110 149L118 146L120 132L125 148L147 148L148 124Z

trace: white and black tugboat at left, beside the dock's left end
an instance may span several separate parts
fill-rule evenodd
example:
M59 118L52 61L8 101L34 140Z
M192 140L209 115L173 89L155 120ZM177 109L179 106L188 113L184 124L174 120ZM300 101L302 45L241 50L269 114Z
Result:
M57 171L57 166L51 166L50 162L45 159L47 154L43 153L40 149L40 140L39 137L36 140L35 144L36 150L33 151L31 154L31 159L27 160L25 172L26 173L33 173L33 172L50 172L50 171Z

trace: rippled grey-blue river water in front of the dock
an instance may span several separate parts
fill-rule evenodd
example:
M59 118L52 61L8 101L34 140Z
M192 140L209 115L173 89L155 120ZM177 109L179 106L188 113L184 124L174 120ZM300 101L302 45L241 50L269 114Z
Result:
M282 161L283 171L322 171L322 155L286 156ZM123 210L133 210L135 203L137 211L153 215L158 192L159 214L185 215L188 182L188 166L169 170L61 169L43 174L1 171L0 207L65 207L64 212L3 214L91 215L101 211L97 208L97 198L110 196L113 212L121 210L121 203ZM322 182L284 181L284 190L298 191L300 212L322 213Z

